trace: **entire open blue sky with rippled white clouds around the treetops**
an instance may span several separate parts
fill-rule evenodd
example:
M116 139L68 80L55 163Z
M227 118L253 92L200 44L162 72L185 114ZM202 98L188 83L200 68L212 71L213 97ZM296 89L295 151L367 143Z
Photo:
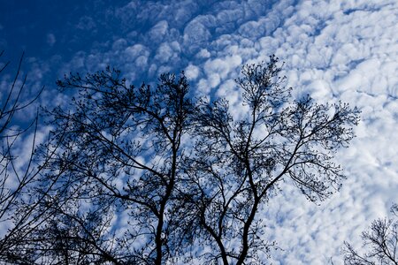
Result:
M275 54L295 95L362 110L356 139L336 155L348 177L341 192L314 204L286 182L262 211L283 249L273 264L342 264L343 241L361 246L361 232L398 202L397 33L396 0L0 0L2 62L15 69L25 51L25 96L45 86L45 106L66 103L55 86L65 73L110 64L138 85L185 71L195 95L239 111L241 65Z

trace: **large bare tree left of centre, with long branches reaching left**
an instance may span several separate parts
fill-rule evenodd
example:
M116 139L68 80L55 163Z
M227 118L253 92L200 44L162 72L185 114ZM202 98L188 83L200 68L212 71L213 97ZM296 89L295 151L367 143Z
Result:
M34 256L64 264L172 261L186 242L173 212L194 107L187 79L165 74L155 88L134 87L108 68L57 85L78 95L49 111L56 128L43 156L58 149L42 179L42 208L51 214L30 239L40 242ZM46 183L56 183L50 193Z

